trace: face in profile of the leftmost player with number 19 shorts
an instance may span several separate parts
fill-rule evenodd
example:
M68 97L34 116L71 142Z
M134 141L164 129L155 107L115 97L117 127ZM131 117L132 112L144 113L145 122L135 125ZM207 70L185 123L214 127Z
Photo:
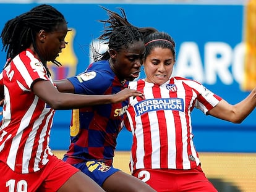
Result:
M38 46L38 51L45 61L54 61L62 49L66 48L65 37L67 35L67 24L60 23L56 30L45 32L43 43Z

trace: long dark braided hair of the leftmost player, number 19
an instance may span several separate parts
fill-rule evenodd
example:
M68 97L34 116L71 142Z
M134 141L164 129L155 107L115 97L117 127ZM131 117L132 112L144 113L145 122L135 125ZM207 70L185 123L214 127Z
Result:
M14 19L9 20L2 30L0 38L4 50L7 52L6 59L11 62L20 52L29 48L31 44L46 67L46 61L40 56L35 44L35 36L40 30L51 32L56 29L60 23L66 23L64 16L54 7L41 4L28 12L21 14ZM7 62L7 64L9 64ZM56 65L61 65L58 61L52 61ZM46 67L46 70L49 70Z

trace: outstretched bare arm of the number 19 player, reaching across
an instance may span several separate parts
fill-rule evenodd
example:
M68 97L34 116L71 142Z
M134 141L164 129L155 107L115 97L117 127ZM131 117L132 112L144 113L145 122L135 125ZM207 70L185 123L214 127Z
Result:
M67 80L68 81L68 80ZM71 83L70 83L71 84ZM98 104L122 102L130 96L140 96L139 91L124 89L117 94L109 95L84 95L59 92L50 81L38 80L32 86L33 93L45 101L53 109L79 109Z

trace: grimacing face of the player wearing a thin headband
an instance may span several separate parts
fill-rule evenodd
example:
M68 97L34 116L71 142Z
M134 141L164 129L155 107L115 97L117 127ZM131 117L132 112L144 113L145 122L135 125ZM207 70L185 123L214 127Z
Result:
M144 61L145 80L149 83L163 85L173 73L174 56L171 49L156 47Z

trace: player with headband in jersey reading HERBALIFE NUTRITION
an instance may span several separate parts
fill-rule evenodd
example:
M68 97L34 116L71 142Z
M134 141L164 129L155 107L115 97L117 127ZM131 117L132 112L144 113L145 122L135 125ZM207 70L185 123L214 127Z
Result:
M156 191L216 191L200 167L193 143L193 109L233 123L241 123L256 106L256 90L236 105L228 104L194 80L171 77L175 43L164 32L144 39L146 78L129 83L145 99L130 98L125 117L132 131L132 175Z

